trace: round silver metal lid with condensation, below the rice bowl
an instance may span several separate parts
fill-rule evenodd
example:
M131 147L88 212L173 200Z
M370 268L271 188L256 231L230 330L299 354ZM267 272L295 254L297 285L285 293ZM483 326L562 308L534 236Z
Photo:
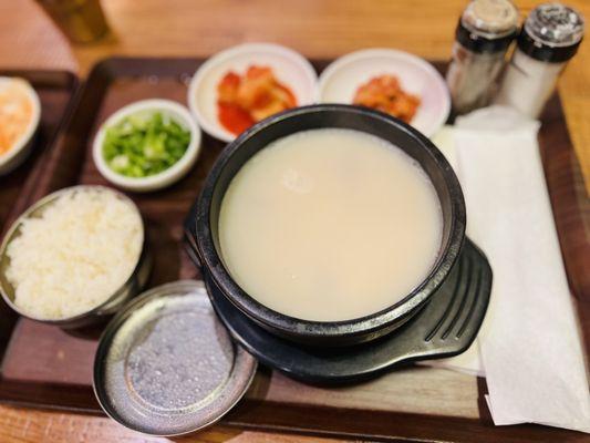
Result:
M176 281L144 292L108 323L94 360L94 392L121 424L178 435L228 412L256 367L218 321L203 282Z

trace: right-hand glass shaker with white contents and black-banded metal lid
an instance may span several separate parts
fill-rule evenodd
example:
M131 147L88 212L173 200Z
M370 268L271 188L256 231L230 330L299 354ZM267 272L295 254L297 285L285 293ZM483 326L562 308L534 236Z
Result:
M528 16L495 102L537 119L559 74L582 41L584 22L572 8L546 3Z

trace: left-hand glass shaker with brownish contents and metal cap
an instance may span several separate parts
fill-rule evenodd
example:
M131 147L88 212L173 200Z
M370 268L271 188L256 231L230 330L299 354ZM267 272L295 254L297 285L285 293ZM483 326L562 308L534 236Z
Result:
M455 32L446 82L455 114L489 104L518 33L518 10L509 0L473 0Z

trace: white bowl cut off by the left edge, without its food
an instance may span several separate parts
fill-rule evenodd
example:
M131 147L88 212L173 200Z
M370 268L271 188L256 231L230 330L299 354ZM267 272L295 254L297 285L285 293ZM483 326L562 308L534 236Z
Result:
M10 76L0 76L0 89L14 80L14 78ZM22 79L19 80L22 81L25 86L27 94L29 95L33 106L33 113L27 130L21 134L21 136L7 153L0 155L0 176L12 172L14 168L17 168L17 166L24 162L29 154L31 154L33 148L33 135L39 127L39 122L41 120L41 102L39 100L39 95L37 95L37 92L28 81Z

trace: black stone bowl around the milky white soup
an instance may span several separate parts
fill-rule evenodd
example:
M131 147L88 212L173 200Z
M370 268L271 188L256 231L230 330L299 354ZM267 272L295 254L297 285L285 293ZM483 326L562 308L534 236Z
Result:
M443 209L443 241L427 277L401 301L366 317L346 321L309 321L261 305L231 278L220 256L218 218L226 189L241 166L269 143L286 135L322 127L362 131L384 138L415 158L431 177ZM271 116L230 143L213 166L186 222L192 257L231 303L276 336L321 347L350 346L382 337L423 307L448 276L463 246L465 203L451 165L432 142L410 125L386 114L356 106L318 104ZM359 257L362 262L363 257ZM362 295L360 295L362 296Z

